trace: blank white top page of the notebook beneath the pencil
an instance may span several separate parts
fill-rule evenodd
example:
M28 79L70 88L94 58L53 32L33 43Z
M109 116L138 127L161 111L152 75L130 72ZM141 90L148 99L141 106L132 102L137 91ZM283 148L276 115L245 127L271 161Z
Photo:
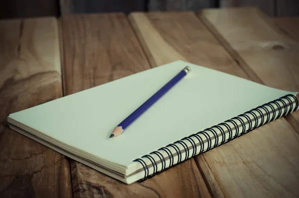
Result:
M186 65L191 71L121 136L113 129ZM150 152L287 94L176 61L36 107L13 119L102 159L128 166Z

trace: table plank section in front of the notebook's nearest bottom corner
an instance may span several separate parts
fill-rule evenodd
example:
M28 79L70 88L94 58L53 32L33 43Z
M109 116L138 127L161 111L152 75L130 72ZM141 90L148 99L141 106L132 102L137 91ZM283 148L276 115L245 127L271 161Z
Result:
M120 183L81 163L72 164L74 197L211 198L194 160L143 183Z

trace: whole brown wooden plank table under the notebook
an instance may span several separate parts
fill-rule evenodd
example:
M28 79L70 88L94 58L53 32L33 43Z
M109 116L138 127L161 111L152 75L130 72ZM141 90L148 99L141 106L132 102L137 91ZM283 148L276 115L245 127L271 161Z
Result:
M175 60L299 91L299 17L256 8L0 21L0 119ZM299 112L125 185L0 123L0 197L299 197Z

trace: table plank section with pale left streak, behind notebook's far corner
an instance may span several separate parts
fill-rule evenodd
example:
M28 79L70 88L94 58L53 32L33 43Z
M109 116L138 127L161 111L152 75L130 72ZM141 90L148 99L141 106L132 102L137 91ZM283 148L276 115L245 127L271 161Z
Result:
M248 78L193 12L135 12L129 17L152 67L184 60Z

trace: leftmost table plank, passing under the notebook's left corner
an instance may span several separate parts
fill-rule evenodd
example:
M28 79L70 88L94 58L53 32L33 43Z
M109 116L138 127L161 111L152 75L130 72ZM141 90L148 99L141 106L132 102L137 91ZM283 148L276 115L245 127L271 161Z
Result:
M0 197L72 197L67 159L2 123L62 96L56 19L1 20L0 54Z

